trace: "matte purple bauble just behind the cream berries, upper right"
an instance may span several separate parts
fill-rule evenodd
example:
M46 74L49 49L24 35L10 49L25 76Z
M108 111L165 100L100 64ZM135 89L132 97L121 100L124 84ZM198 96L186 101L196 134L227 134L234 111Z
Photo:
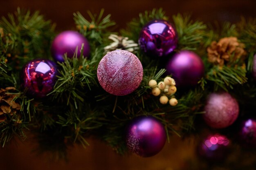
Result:
M204 63L196 53L180 51L167 62L166 73L173 76L177 86L194 86L204 75Z

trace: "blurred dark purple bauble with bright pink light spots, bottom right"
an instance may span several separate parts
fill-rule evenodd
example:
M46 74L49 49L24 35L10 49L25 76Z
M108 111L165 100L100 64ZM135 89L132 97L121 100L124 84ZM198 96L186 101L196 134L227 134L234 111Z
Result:
M221 161L227 157L228 151L229 139L219 134L209 135L198 146L199 155L208 161Z

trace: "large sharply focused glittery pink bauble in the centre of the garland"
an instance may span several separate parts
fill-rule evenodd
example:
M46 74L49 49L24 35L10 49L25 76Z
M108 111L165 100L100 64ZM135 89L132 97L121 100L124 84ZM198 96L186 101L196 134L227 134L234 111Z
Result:
M99 84L108 93L128 95L139 87L143 68L136 55L125 50L115 50L101 59L97 76Z

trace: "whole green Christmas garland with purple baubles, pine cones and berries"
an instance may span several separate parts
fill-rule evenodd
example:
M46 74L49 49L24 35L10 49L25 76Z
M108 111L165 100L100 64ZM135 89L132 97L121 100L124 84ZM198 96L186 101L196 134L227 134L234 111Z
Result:
M256 20L218 29L153 9L117 34L103 10L88 14L74 13L77 31L59 34L38 12L18 8L0 20L2 146L29 130L58 155L94 136L150 157L170 135L202 129L211 130L204 156L238 142L234 134L256 146Z

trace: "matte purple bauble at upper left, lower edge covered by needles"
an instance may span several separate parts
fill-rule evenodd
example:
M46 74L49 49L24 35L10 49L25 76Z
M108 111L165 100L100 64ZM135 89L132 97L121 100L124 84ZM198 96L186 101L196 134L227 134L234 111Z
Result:
M86 38L76 31L64 31L58 34L52 42L52 56L55 61L64 62L63 55L67 53L67 57L72 58L77 48L77 57L80 57L82 44L83 56L88 57L90 46Z

